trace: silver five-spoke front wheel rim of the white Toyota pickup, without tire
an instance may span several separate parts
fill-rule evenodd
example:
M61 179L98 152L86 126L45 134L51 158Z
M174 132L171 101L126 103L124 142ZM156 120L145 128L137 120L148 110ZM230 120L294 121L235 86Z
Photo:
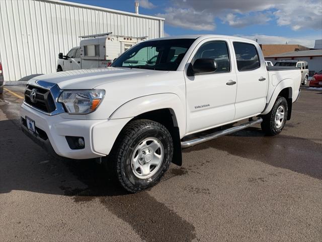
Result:
M152 137L144 139L136 146L132 155L134 175L141 179L151 177L160 168L163 157L164 148L158 139Z

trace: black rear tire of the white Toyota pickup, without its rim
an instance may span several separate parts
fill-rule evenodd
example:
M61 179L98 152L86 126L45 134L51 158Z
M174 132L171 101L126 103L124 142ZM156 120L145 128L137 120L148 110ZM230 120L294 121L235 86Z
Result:
M277 110L281 106L284 108L284 112L283 112L284 118L282 122L280 122L281 125L277 126L277 124L275 123L275 116L276 116ZM288 105L285 97L278 96L272 110L266 115L262 116L263 118L263 122L261 123L262 131L269 136L274 136L281 133L286 123L287 111L288 111Z

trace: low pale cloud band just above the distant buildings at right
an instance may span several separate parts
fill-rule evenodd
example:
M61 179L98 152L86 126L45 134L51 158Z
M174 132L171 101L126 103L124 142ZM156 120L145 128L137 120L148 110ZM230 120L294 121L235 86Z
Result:
M315 39L320 39L321 35L303 36L303 37L284 37L265 34L253 35L236 35L247 39L256 40L259 44L300 44L309 48L313 48Z

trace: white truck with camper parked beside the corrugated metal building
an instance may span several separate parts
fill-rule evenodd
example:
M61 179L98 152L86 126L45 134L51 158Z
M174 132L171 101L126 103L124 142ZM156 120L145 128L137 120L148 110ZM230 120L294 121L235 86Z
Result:
M117 36L112 33L79 36L79 46L66 55L58 54L57 72L106 68L115 58L147 37Z

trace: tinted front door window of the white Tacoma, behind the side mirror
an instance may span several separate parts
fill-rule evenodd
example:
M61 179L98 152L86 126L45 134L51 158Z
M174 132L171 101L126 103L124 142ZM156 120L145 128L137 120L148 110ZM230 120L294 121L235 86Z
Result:
M210 41L201 45L192 59L192 64L200 58L214 59L217 63L215 73L230 72L228 46L225 41Z

